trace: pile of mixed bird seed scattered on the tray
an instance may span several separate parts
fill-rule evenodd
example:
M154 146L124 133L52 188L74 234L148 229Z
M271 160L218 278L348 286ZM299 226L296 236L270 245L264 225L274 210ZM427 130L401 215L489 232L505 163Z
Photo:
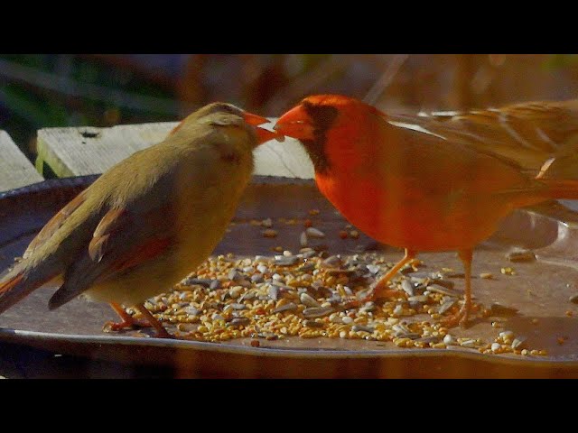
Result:
M398 296L362 303L359 299L394 263L378 253L328 255L305 247L275 256L211 257L172 291L144 305L155 318L175 326L175 336L182 339L251 337L251 345L259 346L264 339L326 337L390 341L398 347L461 346L482 354L547 355L508 330L494 341L452 336L443 318L461 307L463 294L454 289L453 279L463 274L446 268L424 272L423 263L415 260L392 280ZM498 313L474 303L471 318Z

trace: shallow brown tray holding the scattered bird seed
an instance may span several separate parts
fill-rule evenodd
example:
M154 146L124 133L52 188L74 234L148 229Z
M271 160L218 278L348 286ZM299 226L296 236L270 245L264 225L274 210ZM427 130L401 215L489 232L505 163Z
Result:
M0 194L0 270L5 270L14 257L23 253L48 219L80 190L86 188L95 176L48 180L23 189ZM310 209L319 209L310 217ZM297 253L299 234L303 225L285 225L275 222L276 238L260 235L261 227L252 226L251 219L270 217L310 217L315 227L327 234L324 243L329 253L349 255L375 248L367 236L342 240L337 235L347 224L317 191L310 180L256 177L247 189L235 217L235 225L214 252L235 253L251 257L256 254L273 255L272 247L282 245ZM459 358L481 360L490 364L532 365L536 367L578 367L578 305L569 297L578 293L578 230L550 218L517 211L504 221L499 232L481 244L474 253L473 275L491 272L493 280L475 278L472 281L476 299L484 305L499 303L518 309L515 317L508 318L504 327L491 327L492 318L480 319L468 329L454 328L454 336L476 336L488 341L504 329L516 335L527 336L528 345L548 352L546 356L482 355L475 350L460 347L447 349L407 349L392 343L330 338L305 339L289 337L261 342L260 347L249 345L248 339L223 343L166 340L146 336L143 332L127 331L118 334L102 332L107 320L116 319L106 304L73 299L60 309L49 311L47 301L54 288L36 290L12 309L0 316L0 340L70 355L89 355L123 362L145 364L213 363L218 356L226 364L243 359L229 369L255 369L257 364L272 358L278 360L350 360L364 365L394 358ZM530 248L536 253L533 263L509 263L505 255L514 246ZM402 251L379 245L378 253L387 261L401 258ZM455 253L422 253L424 271L453 268L461 272L461 263ZM500 273L500 268L511 266L516 275ZM0 271L0 272L2 272ZM461 289L463 280L455 280ZM537 318L537 321L536 321ZM564 337L564 344L559 344ZM148 354L144 356L143 354ZM145 358L145 359L144 359ZM374 363L375 364L375 363ZM324 368L329 368L325 364ZM222 367L222 366L221 366Z

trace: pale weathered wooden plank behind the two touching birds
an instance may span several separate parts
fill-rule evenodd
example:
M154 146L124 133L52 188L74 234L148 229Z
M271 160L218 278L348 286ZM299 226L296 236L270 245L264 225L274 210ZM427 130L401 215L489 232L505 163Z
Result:
M98 174L138 150L163 140L178 123L126 124L111 128L45 128L38 131L37 167L60 177ZM256 173L311 179L312 163L294 139L271 141L255 152Z

